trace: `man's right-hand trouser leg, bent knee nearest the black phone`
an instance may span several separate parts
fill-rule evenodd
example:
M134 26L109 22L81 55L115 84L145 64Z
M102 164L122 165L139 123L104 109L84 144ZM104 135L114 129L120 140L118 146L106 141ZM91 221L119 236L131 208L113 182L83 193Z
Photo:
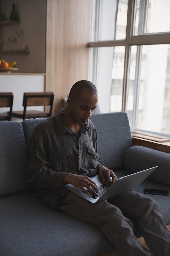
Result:
M143 194L129 191L112 199L123 214L136 220L150 251L155 256L170 256L170 233L156 202Z

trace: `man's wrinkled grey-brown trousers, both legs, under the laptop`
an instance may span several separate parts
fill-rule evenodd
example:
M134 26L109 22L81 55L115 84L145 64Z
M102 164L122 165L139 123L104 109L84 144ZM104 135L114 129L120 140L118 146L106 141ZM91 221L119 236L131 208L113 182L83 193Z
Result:
M69 192L60 209L98 226L123 256L170 256L170 234L159 207L143 194L129 191L112 201L91 204ZM136 220L150 251L139 243L132 223L123 214Z

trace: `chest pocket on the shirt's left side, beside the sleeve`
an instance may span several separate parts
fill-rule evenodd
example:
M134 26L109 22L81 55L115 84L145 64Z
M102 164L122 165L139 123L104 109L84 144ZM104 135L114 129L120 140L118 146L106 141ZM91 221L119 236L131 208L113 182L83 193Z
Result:
M55 171L68 172L73 161L73 149L66 148L63 151L53 153Z

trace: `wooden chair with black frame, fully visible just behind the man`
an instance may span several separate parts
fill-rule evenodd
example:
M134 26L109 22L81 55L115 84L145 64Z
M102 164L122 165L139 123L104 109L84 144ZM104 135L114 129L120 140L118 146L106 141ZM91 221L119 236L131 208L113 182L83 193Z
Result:
M12 116L25 119L50 117L52 114L54 101L53 93L24 93L23 94L23 111L13 111ZM49 112L38 110L27 110L28 106L50 106Z

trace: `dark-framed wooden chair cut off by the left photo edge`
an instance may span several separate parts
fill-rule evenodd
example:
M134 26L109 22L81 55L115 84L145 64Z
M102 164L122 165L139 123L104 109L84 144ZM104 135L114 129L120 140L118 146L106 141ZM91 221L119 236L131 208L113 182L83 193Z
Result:
M12 93L0 93L0 108L10 108L7 114L0 113L0 121L11 121L13 97Z

